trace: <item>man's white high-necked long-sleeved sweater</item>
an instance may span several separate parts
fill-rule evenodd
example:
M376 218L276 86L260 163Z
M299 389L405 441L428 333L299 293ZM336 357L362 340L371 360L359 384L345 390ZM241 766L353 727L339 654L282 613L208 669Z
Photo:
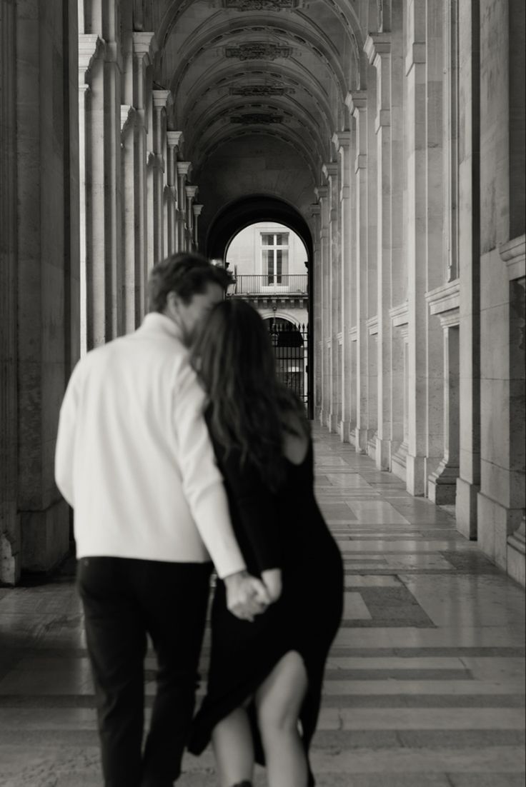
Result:
M55 455L77 557L211 557L220 577L245 567L202 405L179 328L157 312L80 360Z

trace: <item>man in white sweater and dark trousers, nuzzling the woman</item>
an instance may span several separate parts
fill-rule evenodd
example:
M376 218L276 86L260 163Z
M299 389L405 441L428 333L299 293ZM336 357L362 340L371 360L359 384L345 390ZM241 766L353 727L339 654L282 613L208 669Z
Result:
M270 600L246 574L186 349L228 281L197 255L157 264L143 325L87 353L61 407L55 475L75 509L106 787L168 787L180 774L209 558L235 615ZM157 694L141 758L146 634Z

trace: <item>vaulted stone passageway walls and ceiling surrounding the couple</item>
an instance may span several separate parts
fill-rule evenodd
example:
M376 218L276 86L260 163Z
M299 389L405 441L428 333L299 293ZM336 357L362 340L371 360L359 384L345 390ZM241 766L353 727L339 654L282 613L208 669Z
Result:
M269 216L309 251L315 418L524 582L524 3L0 7L0 578L68 549L77 358L157 260Z

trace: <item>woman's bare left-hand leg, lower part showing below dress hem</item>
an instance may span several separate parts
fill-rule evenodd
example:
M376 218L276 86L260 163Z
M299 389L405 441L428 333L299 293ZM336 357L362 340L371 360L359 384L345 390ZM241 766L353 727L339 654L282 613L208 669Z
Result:
M250 785L254 771L254 743L245 708L235 711L213 728L213 753L221 787Z

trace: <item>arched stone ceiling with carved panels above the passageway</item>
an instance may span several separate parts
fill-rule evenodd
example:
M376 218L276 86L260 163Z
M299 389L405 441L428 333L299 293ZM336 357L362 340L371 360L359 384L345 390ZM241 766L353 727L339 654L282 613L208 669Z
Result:
M365 84L378 2L150 0L154 80L173 97L203 236L224 205L254 194L294 205L309 223L333 135L348 127L346 94ZM241 166L228 161L238 155Z

